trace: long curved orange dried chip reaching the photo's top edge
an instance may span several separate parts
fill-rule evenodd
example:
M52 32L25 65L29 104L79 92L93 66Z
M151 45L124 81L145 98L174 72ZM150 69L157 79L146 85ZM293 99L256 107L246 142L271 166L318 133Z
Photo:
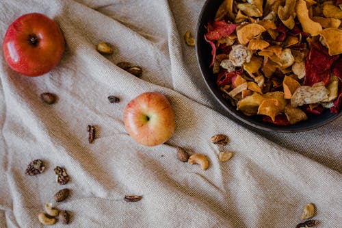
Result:
M319 32L322 30L322 27L319 23L311 20L308 16L308 8L306 7L306 1L298 0L295 8L295 12L297 13L298 20L302 25L303 31L311 34L311 36L317 36Z

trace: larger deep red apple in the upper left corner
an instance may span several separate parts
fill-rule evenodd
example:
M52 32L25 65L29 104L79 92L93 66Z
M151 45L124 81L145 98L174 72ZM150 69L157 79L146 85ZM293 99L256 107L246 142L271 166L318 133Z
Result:
M64 49L60 27L39 13L17 18L3 40L3 55L10 68L31 77L44 75L57 66Z

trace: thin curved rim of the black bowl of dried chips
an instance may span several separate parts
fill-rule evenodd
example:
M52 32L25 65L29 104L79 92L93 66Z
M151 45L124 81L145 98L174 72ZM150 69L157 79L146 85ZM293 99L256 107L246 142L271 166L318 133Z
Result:
M212 0L205 1L205 3L202 5L202 8L200 10L200 14L198 14L198 19L197 19L197 23L196 23L196 36L195 36L195 39L196 39L196 42L195 42L196 60L197 60L198 68L200 69L200 74L202 75L202 79L204 79L207 88L209 89L209 91L211 92L211 94L213 95L215 100L218 101L218 103L220 103L220 105L224 108L224 110L226 110L228 112L229 115L228 116L226 115L228 118L229 118L229 116L232 116L233 118L235 118L235 120L233 119L233 121L235 121L235 122L241 122L243 125L246 125L247 127L252 127L254 129L261 129L263 131L282 132L282 133L298 133L298 132L317 129L318 127L322 127L322 126L336 120L337 118L339 118L339 116L341 116L342 112L340 110L340 112L338 114L335 114L334 116L327 118L324 121L316 123L315 125L311 125L308 127L301 127L299 129L293 129L293 128L287 129L286 128L287 126L280 126L280 125L269 125L267 127L257 125L256 123L253 123L253 122L249 121L248 119L242 117L242 115L244 115L244 114L241 113L241 116L240 116L240 115L236 114L235 112L233 112L229 107L227 107L227 105L223 101L224 98L222 96L218 96L217 94L215 94L214 88L212 88L212 86L208 83L207 78L205 77L205 73L202 71L202 67L204 67L204 66L202 65L201 57L199 55L200 29L204 25L204 23L202 23L202 17L203 17L203 14L205 13L207 5L211 1ZM217 88L215 88L215 89L217 89ZM239 124L241 125L241 123L239 123Z

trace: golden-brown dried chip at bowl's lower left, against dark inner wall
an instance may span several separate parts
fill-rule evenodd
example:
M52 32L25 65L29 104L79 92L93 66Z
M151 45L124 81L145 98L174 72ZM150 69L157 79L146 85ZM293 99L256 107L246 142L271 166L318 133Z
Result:
M237 103L237 110L244 112L244 114L248 116L255 115L257 114L258 107L263 100L264 98L261 94L254 92L252 95L241 99Z

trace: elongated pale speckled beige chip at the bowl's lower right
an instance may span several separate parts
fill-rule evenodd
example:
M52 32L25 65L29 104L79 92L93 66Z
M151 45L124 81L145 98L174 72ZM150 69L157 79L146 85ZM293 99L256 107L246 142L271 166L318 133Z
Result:
M291 97L291 105L293 107L302 106L304 104L318 103L328 98L329 90L325 86L300 86Z

